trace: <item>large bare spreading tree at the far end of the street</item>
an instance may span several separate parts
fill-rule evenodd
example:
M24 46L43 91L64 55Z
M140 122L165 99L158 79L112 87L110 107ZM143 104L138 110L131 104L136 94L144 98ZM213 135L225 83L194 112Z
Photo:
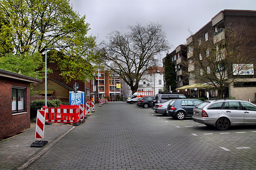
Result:
M128 26L130 31L112 31L100 46L102 63L106 69L116 72L130 86L132 92L150 66L157 66L159 56L170 46L162 25L148 23Z

